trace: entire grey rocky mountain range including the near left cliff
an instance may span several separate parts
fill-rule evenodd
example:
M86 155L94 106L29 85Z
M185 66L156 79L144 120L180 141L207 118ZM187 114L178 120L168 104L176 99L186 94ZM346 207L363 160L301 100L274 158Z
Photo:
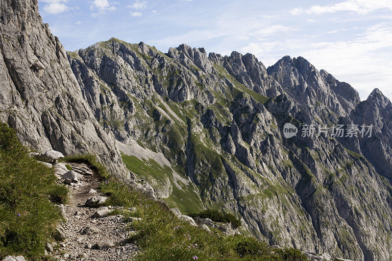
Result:
M0 120L25 145L94 153L170 207L233 213L271 245L391 260L392 104L378 89L361 101L302 57L266 68L116 38L66 52L36 0L0 6ZM338 125L358 131L317 135Z

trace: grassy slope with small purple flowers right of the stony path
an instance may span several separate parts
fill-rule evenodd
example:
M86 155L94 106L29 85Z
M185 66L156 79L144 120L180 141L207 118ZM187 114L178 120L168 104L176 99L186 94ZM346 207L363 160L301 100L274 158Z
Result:
M196 257L198 260L306 260L299 250L273 249L252 237L225 236L217 230L207 232L193 227L175 217L166 204L154 201L110 177L93 156L68 157L66 160L89 163L97 168L103 178L100 190L108 196L106 205L122 206L124 209L136 207L136 213L118 213L125 218L141 218L139 221L128 219L131 221L129 229L135 231L128 241L142 250L134 260L182 261Z

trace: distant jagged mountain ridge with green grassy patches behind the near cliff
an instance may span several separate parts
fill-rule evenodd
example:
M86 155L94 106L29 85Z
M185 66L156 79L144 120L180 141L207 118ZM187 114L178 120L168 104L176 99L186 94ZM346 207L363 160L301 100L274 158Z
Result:
M378 90L361 102L302 57L266 69L252 54L187 45L165 54L112 38L68 59L127 167L172 207L235 213L273 245L392 258L392 110ZM299 129L290 139L287 122ZM301 137L304 124L374 129Z

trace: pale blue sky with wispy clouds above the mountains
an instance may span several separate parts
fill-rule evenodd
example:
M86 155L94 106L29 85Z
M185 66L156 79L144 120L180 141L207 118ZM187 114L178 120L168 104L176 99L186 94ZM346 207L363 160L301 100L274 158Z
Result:
M266 67L285 55L392 99L392 0L39 0L67 50L117 37L163 52L188 44L253 53Z

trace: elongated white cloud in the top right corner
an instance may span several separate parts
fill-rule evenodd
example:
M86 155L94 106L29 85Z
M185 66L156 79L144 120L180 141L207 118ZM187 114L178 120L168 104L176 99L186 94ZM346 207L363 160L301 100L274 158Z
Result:
M310 8L294 8L289 12L292 15L301 15L301 14L326 14L326 13L336 13L339 11L349 11L355 12L361 15L368 14L375 10L379 9L388 9L392 10L392 0L377 0L377 1L369 1L369 0L346 0L343 2L329 4L329 5L314 5Z

